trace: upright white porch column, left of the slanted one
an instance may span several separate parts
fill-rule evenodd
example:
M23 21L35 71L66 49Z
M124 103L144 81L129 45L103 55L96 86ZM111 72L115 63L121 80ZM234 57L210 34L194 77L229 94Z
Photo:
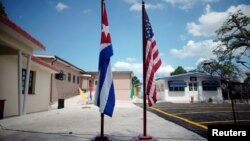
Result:
M17 58L17 76L18 76L18 115L22 115L22 51L18 51Z

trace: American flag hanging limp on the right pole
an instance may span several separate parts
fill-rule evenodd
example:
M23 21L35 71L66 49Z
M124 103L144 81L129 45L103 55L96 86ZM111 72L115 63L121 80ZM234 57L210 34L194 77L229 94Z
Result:
M161 58L154 39L154 33L148 19L146 10L144 10L144 41L146 42L146 55L145 55L145 72L146 72L146 87L145 91L148 96L148 105L152 106L157 101L156 85L154 74L161 66Z

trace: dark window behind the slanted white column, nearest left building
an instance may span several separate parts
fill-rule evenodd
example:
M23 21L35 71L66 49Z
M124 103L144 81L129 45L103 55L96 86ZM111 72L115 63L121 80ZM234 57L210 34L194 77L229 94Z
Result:
M22 93L24 94L26 79L26 69L22 69ZM35 94L35 72L30 71L30 78L28 83L28 94Z

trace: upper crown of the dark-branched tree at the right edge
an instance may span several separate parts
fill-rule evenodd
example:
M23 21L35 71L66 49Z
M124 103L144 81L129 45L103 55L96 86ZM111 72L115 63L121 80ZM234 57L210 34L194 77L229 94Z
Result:
M213 51L219 61L231 61L250 55L250 17L241 10L230 14L223 25L216 31L219 43Z

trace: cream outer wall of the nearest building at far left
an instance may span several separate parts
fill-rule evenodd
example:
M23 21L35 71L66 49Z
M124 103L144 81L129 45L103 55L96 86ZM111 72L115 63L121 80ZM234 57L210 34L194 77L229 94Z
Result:
M6 99L4 117L18 115L18 76L17 56L0 55L0 99ZM23 68L26 57L23 57ZM35 71L35 95L27 96L27 113L48 109L50 97L50 72L35 62L31 62L31 70Z

